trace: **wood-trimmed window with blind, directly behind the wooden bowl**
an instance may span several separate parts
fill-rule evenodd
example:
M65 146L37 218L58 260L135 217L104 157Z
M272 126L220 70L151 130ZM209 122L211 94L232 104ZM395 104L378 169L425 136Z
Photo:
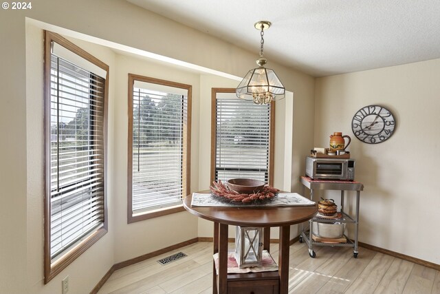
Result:
M212 89L211 182L252 178L272 185L274 104Z

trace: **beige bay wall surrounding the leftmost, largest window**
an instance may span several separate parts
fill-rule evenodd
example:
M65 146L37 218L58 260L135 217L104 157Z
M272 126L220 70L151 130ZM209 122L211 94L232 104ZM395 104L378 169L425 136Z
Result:
M74 43L87 52L93 54L111 69L115 68L115 54L108 48L97 46L87 42L74 40ZM61 289L61 280L69 275L70 291L72 293L87 293L91 290L90 285L99 280L104 275L113 262L113 238L114 230L104 235L98 243L87 250L83 255L75 260L67 269L58 274L54 280L47 285L43 285L43 196L44 196L44 135L43 135L43 30L31 23L26 23L26 163L27 174L27 250L25 251L25 261L27 270L25 271L26 280L23 286L27 286L29 293L58 293ZM110 70L110 80L112 78ZM109 84L109 130L114 125L114 84ZM109 216L113 215L113 132L109 132L107 165L107 199ZM113 218L109 218L109 228L114 227ZM3 253L3 252L1 252ZM15 256L17 258L17 256ZM84 266L90 260L96 264L94 271L84 271ZM23 275L21 275L23 277ZM18 285L14 285L17 287ZM0 293L14 293L17 288ZM25 293L25 291L17 293Z

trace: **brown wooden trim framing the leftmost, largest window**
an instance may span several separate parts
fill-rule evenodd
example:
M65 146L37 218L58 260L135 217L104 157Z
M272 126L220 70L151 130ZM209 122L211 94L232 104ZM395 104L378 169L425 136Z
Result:
M51 42L54 41L72 52L83 57L87 61L94 63L107 72L106 83L104 88L104 223L102 227L91 233L85 240L78 243L72 249L64 253L64 255L52 264L50 256L50 56L51 56ZM96 59L85 50L79 48L59 34L44 31L44 97L45 97L45 111L44 111L44 129L45 129L45 198L44 198L44 283L47 284L58 273L63 271L69 264L71 264L78 256L84 253L87 249L95 244L108 231L108 216L107 216L107 189L105 189L107 179L107 108L108 108L108 93L109 93L109 65Z

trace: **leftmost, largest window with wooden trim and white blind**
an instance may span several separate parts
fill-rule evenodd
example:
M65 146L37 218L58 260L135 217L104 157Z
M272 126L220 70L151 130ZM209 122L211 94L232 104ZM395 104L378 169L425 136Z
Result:
M45 283L107 233L108 69L45 32Z

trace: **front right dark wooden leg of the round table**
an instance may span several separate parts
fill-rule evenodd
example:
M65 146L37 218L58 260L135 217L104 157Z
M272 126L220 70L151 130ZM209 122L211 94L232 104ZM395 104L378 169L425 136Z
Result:
M278 252L280 294L287 294L289 292L289 242L290 226L280 227L280 249Z

